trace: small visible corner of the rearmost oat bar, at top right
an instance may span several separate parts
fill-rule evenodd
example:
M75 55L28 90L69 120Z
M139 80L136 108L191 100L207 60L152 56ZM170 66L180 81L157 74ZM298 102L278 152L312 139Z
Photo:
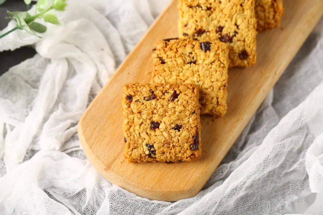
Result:
M283 15L283 0L255 0L257 30L276 28Z

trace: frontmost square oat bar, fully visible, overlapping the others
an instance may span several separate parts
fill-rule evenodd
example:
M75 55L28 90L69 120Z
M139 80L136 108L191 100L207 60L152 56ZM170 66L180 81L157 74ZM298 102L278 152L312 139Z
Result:
M199 158L198 98L193 84L126 84L122 97L125 157L136 162Z

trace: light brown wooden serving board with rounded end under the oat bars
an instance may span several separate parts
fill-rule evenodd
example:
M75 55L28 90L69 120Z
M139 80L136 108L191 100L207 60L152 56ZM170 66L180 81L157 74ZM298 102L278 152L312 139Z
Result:
M282 28L257 35L257 63L229 70L225 118L202 116L202 157L193 162L128 163L124 160L121 96L129 82L149 83L151 49L157 40L177 36L177 0L154 22L78 122L85 155L113 184L151 200L194 196L214 172L323 13L322 0L284 2Z

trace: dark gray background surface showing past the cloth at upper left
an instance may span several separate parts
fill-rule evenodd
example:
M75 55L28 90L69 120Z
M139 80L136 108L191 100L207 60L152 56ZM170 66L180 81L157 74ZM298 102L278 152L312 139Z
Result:
M6 0L3 5L0 5L0 29L4 29L10 21L10 19L5 19L5 17L7 16L7 10L26 11L29 8L30 5L25 5L25 2L23 0ZM27 58L33 57L35 54L36 51L33 48L26 46L14 51L0 52L0 75L7 72L10 67L19 64Z

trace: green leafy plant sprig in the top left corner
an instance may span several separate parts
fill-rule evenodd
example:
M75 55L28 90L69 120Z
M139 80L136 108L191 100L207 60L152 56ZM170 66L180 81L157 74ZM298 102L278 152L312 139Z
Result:
M26 4L30 4L31 0L24 0ZM30 15L27 12L10 12L7 11L9 19L16 21L17 25L10 31L0 35L0 38L14 32L18 29L25 30L27 33L38 36L37 33L44 33L47 27L43 24L35 22L36 19L43 19L44 22L51 24L60 24L57 15L53 11L64 11L67 6L67 0L53 0L52 5L49 5L48 0L38 0L36 3L36 14ZM40 36L38 36L40 37Z

